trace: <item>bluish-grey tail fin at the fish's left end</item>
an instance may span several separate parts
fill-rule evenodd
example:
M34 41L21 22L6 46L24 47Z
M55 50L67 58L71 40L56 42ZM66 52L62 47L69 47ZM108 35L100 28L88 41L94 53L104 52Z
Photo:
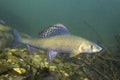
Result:
M21 36L16 29L13 29L14 43L13 47L16 47L21 42Z

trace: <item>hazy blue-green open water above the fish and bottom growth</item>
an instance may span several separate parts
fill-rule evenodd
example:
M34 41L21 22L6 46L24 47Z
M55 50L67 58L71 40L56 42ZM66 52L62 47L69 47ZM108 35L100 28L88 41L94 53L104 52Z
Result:
M120 0L0 0L0 19L32 36L62 23L71 33L96 41L98 37L87 22L111 43L120 33Z

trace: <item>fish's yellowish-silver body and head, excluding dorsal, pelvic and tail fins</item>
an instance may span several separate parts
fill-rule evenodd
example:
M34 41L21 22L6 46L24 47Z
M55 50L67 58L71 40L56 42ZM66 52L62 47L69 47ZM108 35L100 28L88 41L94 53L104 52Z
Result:
M48 38L21 38L20 42L44 50L53 50L59 53L71 53L71 57L80 53L94 53L102 50L102 48L95 43L70 34Z

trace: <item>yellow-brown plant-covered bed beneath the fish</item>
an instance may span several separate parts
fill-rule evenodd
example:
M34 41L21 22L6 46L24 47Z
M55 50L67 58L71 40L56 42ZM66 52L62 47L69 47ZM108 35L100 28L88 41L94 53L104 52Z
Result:
M120 40L120 38L117 39ZM102 44L104 44L103 41ZM112 48L116 49L116 47L117 45ZM107 45L103 45L103 51L98 54L80 54L74 58L69 58L67 54L60 54L52 62L47 61L45 51L37 50L29 53L23 46L14 49L5 47L0 53L0 79L2 80L120 79L118 57L120 52L110 50Z

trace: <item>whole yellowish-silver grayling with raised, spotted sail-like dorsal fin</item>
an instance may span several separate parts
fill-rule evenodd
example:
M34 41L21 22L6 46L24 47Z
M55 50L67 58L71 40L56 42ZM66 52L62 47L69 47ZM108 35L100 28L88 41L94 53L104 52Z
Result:
M13 33L16 41L14 45L19 42L47 50L49 61L53 60L58 53L70 53L70 57L74 57L80 53L95 53L102 50L97 44L70 34L63 24L55 24L44 29L39 33L40 38L23 38L15 29Z

